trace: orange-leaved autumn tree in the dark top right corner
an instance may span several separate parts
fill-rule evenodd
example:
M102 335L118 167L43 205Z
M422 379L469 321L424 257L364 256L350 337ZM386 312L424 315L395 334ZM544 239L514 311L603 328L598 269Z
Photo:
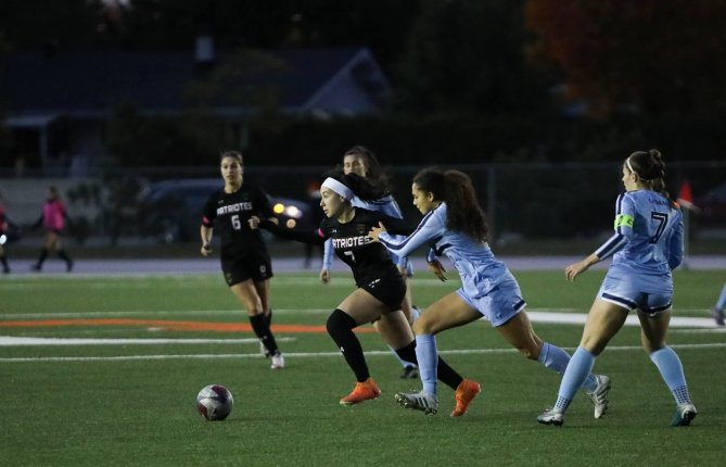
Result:
M534 63L590 112L726 110L726 2L528 0Z

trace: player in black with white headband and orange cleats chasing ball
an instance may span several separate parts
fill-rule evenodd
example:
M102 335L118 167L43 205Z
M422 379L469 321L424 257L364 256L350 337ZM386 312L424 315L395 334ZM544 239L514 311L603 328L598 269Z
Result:
M403 359L416 363L413 332L400 311L406 282L385 248L368 237L371 227L381 222L386 226L390 223L394 232L408 234L412 229L403 219L354 207L351 204L354 195L364 201L381 198L369 180L356 174L337 174L327 178L320 188L320 206L326 218L315 232L278 229L273 223L260 223L257 217L252 217L250 225L253 228L270 229L283 238L308 243L323 243L330 238L335 254L351 266L358 288L328 317L327 328L356 375L355 389L340 400L341 405L353 405L381 395L381 390L368 371L360 341L353 329L378 320L378 331L389 346ZM438 379L453 389L463 381L442 359L438 361ZM432 415L434 413L435 411Z

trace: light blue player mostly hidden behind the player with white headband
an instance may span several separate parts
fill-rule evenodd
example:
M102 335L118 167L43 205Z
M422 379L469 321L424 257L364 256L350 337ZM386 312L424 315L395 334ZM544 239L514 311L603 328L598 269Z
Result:
M403 218L404 216L400 213L398 203L391 194L391 189L389 187L389 180L385 176L381 164L379 163L375 154L373 154L368 148L362 146L354 146L353 148L345 151L343 155L343 173L344 174L357 174L360 177L367 178L373 182L381 191L387 193L383 198L380 198L374 201L364 201L360 198L353 198L351 204L354 207L362 207L369 211L375 211L383 213L387 216L395 218ZM326 241L323 247L322 254L322 269L320 270L320 280L322 283L330 282L330 267L333 260L333 249L332 240ZM406 256L398 256L391 253L391 260L396 264L400 275L404 277L406 282L406 295L400 308L408 319L408 323L413 323L413 320L419 316L419 311L411 304L411 289L408 283L408 278L413 276L413 268L411 267L411 262ZM416 379L419 377L418 367L411 363L406 362L400 358L400 356L391 349L391 353L396 359L400 363L403 371L400 374L402 379Z

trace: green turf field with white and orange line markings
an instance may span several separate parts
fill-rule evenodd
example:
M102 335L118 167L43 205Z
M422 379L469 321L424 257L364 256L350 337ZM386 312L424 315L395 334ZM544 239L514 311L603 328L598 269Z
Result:
M584 313L602 272L575 285L561 272L518 273L528 310ZM726 270L678 272L674 316L709 317ZM454 290L420 273L415 303ZM556 399L559 377L507 348L486 323L440 336L440 350L482 383L467 416L451 419L453 391L440 413L399 407L399 365L375 333L359 333L383 396L341 407L354 377L319 332L352 288L339 274L322 286L310 274L272 282L273 324L286 368L272 371L218 275L0 278L0 464L3 466L620 466L724 463L726 331L674 327L699 416L671 428L674 402L625 327L596 363L612 378L610 409L591 416L581 395L562 428L536 416ZM572 350L581 325L535 323L545 340ZM20 345L13 338L43 338ZM58 339L58 340L51 340ZM72 340L73 339L73 340ZM230 418L202 419L196 392L227 386Z

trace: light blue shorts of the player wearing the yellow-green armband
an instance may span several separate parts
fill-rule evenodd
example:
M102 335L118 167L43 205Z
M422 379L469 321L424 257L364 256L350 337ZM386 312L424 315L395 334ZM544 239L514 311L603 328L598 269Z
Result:
M609 270L597 296L628 312L637 308L649 315L657 315L671 310L673 282L664 277Z

